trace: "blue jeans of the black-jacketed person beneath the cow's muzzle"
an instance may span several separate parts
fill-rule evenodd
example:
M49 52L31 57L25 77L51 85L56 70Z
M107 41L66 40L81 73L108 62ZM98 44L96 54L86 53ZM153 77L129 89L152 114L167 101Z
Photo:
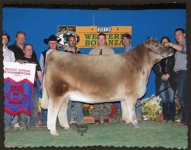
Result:
M174 120L175 113L175 91L172 89L170 82L162 80L159 87L160 97L162 99L162 111L164 120Z

